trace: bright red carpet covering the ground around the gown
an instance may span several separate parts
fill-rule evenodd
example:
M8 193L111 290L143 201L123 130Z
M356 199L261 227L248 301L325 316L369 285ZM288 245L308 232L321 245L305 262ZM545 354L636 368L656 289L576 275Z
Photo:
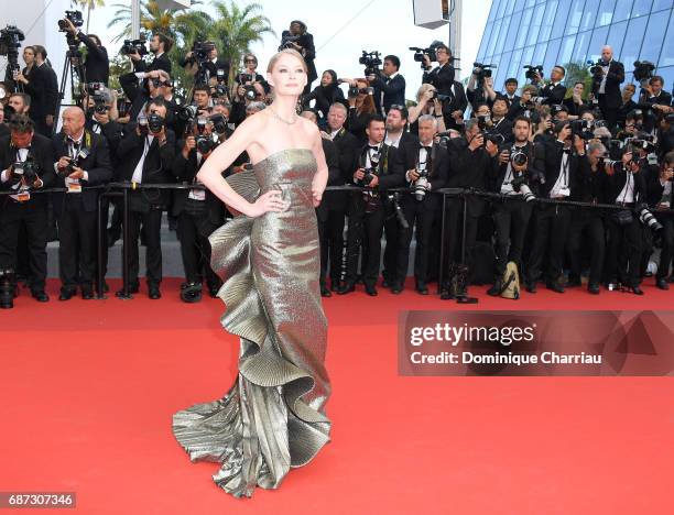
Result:
M48 304L22 291L0 311L0 491L75 491L74 512L115 515L672 513L671 377L401 377L398 310L459 306L362 287L324 302L333 441L280 490L232 498L216 463L189 462L171 417L225 394L238 342L219 299L183 304L177 285L161 300L143 286L133 300L59 303L50 283ZM461 308L674 307L652 280L643 297L485 289Z

